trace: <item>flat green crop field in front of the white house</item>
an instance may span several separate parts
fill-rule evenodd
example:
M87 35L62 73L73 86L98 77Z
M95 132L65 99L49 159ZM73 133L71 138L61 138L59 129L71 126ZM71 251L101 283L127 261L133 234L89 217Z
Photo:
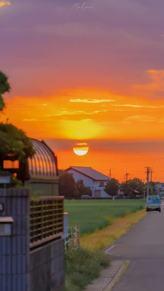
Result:
M107 217L123 217L127 210L136 212L144 205L144 200L64 200L64 212L68 212L68 227L79 222L82 235L109 225Z

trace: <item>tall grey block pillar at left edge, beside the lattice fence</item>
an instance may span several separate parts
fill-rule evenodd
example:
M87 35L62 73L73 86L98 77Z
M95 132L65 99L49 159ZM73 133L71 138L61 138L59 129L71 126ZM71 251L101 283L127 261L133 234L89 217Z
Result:
M11 236L0 236L0 290L28 291L28 189L0 189L0 216L12 217Z

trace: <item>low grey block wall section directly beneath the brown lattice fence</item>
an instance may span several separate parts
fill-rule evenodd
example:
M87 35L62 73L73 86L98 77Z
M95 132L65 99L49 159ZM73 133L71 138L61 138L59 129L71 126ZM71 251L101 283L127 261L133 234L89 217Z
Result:
M64 240L58 239L29 256L29 291L64 291Z

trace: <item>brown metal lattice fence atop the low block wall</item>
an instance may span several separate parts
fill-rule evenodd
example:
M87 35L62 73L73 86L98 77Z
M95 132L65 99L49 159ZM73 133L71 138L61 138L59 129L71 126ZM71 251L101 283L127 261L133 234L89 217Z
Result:
M61 237L64 196L40 197L30 201L30 248Z

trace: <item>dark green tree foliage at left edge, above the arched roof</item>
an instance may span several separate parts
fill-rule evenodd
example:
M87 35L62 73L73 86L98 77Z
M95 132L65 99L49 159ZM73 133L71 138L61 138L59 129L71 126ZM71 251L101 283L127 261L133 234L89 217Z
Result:
M3 110L5 103L2 94L10 91L8 77L0 71L0 111ZM32 141L25 132L14 125L0 123L0 157L5 159L6 155L15 155L19 161L32 157L35 151Z

